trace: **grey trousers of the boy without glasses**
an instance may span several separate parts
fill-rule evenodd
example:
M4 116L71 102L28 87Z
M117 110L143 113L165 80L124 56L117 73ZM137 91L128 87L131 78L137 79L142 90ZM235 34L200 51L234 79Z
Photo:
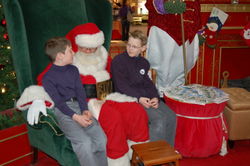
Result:
M66 104L75 113L81 114L77 101ZM107 166L106 135L96 119L88 127L82 127L71 117L55 108L55 116L61 130L71 141L74 152L81 166Z

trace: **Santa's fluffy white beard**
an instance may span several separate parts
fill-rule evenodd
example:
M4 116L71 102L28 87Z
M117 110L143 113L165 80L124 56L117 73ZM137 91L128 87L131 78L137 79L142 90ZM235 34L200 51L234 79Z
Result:
M95 64L88 63L88 59L84 58L80 53L74 56L73 65L75 65L80 74L92 75L96 82L102 82L110 79L109 73L106 71L108 61L108 52L105 47L101 46L96 51L96 56L91 59Z

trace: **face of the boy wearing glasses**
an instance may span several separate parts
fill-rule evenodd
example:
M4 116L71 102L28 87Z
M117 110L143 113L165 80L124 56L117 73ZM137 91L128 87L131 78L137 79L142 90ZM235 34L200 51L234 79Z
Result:
M141 45L141 40L129 37L127 43L127 52L130 57L136 57L146 50L146 46Z

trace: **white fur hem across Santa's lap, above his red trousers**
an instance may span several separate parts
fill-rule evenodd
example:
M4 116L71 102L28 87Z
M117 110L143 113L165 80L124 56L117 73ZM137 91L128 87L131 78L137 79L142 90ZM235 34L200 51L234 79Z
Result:
M106 100L112 100L116 102L138 102L136 97L127 96L118 92L110 93L107 95Z

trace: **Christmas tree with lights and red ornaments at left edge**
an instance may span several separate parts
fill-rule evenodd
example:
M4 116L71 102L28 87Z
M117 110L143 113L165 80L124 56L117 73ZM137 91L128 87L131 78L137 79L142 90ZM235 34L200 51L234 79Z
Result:
M0 111L14 107L19 91L14 71L11 47L4 18L2 0L0 0Z

